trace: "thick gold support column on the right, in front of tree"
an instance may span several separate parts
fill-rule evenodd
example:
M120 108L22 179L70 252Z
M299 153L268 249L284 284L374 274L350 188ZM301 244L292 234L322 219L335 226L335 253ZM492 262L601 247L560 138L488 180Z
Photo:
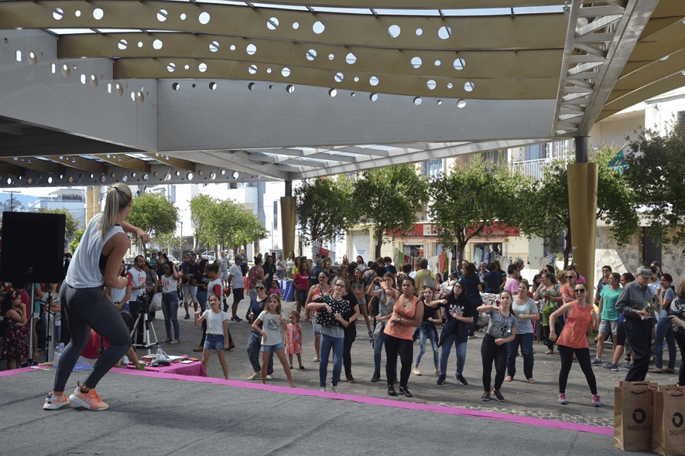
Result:
M595 236L597 236L597 173L599 165L588 163L588 138L576 138L576 162L567 170L573 264L585 277L590 296L595 281Z

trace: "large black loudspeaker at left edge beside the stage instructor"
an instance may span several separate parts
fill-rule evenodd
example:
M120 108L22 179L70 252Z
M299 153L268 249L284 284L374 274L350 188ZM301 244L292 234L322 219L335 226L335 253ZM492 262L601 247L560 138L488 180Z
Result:
M58 283L64 279L64 214L3 212L0 280Z

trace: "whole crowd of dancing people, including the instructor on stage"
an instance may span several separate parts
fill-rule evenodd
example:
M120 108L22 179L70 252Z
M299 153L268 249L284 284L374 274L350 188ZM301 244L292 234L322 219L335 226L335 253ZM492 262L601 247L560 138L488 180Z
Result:
M673 278L662 274L658 264L638 268L635 276L619 275L604 266L596 287L579 276L574 266L562 271L545 266L529 283L521 276L523 262L508 265L505 272L497 262L476 266L464 261L458 270L443 278L429 270L426 259L420 259L416 267L403 264L397 270L388 257L366 264L362 257L349 262L345 256L342 264L334 267L325 256L309 259L292 252L286 259L282 255L258 254L251 267L244 251L233 258L233 264L229 264L225 252L214 262L188 253L179 266L164 253L152 261L139 255L132 268L125 270L123 255L129 240L124 233L135 233L141 242L149 240L142 230L125 222L130 208L127 190L123 185L110 188L105 214L88 225L64 283L36 286L35 309L29 309L30 288L16 284L3 297L1 354L8 360L8 368L17 368L27 358L29 338L34 338L34 347L40 346L40 327L45 327L45 318L50 316L55 323L60 320L53 339L65 342L66 349L59 359L45 409L57 409L70 402L93 410L108 407L95 392L97 382L123 355L138 362L132 344L145 344L142 325L138 325L133 337L129 331L141 314L155 318L145 304L154 294L162 295L164 342L179 343L179 307L183 305L186 318L190 318L192 305L195 325L203 329L195 351L202 352L205 366L211 352L216 351L225 378L228 367L224 351L236 347L229 321L243 321L237 312L246 297L249 306L245 319L251 333L247 341L241 342L247 342L253 368L248 379L262 383L271 380L275 354L288 383L294 387L293 361L297 359L296 368L304 368L303 332L312 331L312 361L319 362L321 391L330 386L333 392L339 392L343 369L345 380L355 382L352 346L360 325L365 326L364 334L373 344L371 381L382 379L385 355L384 375L390 396L398 392L412 396L410 377L422 375L427 342L432 349L429 372L437 377L436 383L447 383L454 346L454 378L468 385L464 377L467 342L481 337L482 400L504 401L501 388L516 376L517 358L523 357L525 380L536 383L533 339L538 332L548 349L545 355L556 349L561 358L558 402L567 403L566 383L575 360L597 407L601 400L593 366L618 370L625 352L630 359L625 366L626 380L642 381L651 357L655 367L650 372L675 373L676 344L681 355L685 353L685 281L675 290ZM296 301L295 309L287 316L282 310L280 287L274 283L286 277L292 279ZM360 322L361 316L364 322ZM34 334L27 330L29 318L43 324L34 325L38 330ZM86 331L88 328L92 331ZM478 330L482 335L476 333ZM589 333L598 333L594 357L590 355ZM416 340L419 347L414 356ZM608 340L612 342L610 360L602 364ZM99 349L97 344L101 345ZM665 367L664 345L669 349ZM71 369L90 346L97 349L97 361L84 383L67 397L64 388ZM678 382L685 385L682 362ZM395 390L397 383L399 389Z

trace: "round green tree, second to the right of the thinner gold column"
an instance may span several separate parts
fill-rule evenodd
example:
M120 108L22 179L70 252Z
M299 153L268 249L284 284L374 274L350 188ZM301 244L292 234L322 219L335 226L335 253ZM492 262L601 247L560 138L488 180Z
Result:
M413 164L366 170L356 181L352 198L362 223L374 229L379 257L384 236L395 240L398 231L408 231L416 223L416 213L428 203L428 181Z

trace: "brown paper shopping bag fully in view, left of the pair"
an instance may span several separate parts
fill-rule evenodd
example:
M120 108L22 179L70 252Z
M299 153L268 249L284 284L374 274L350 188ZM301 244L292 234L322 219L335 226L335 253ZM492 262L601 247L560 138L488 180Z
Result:
M614 446L650 451L654 418L653 390L641 383L614 390Z

